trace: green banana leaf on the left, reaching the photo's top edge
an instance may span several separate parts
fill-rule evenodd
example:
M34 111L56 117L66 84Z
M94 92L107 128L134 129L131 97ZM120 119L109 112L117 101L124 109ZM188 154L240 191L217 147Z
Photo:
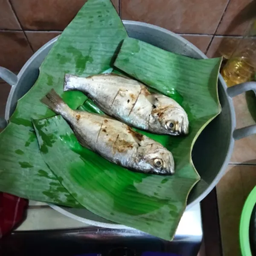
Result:
M79 207L44 162L31 118L54 113L40 99L54 88L71 108L87 97L63 93L64 74L89 76L113 64L125 28L110 0L88 0L67 26L40 67L35 85L18 101L9 125L0 134L0 191L36 201ZM80 206L81 207L81 206Z

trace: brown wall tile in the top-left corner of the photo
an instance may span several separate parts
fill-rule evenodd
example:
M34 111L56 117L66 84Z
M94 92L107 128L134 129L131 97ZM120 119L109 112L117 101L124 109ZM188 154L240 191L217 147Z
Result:
M0 29L20 29L20 24L8 0L0 0Z

